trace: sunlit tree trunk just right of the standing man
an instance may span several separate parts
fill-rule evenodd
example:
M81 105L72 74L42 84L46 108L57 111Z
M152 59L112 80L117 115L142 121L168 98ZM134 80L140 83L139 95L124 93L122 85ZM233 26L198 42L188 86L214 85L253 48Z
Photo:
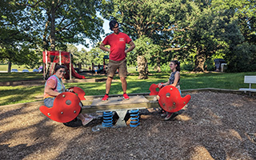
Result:
M137 57L138 62L138 79L147 79L148 78L148 68L146 58L143 56Z

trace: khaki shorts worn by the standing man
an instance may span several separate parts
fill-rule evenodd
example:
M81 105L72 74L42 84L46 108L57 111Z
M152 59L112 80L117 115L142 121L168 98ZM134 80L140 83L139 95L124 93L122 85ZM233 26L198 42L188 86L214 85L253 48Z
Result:
M126 78L127 76L126 59L122 61L109 60L109 64L107 66L107 77L113 78L117 70L118 70L119 77Z

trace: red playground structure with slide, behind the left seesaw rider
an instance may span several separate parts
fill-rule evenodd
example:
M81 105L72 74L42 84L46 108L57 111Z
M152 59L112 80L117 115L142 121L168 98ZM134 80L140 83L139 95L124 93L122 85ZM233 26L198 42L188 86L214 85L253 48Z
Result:
M44 51L42 52L43 57L43 78L47 79L54 74L54 68L57 64L66 66L66 74L64 78L70 79L71 76L74 78L85 79L84 76L78 74L74 70L74 66L71 61L72 54L65 51Z

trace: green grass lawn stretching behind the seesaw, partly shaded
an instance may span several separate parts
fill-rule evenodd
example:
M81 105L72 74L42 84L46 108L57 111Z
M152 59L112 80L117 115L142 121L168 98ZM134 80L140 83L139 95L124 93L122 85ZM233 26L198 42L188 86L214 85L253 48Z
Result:
M244 84L245 75L256 75L256 72L246 73L181 73L181 89L198 89L198 88L220 88L238 90L239 88L246 88L249 85ZM133 75L127 78L127 93L149 93L150 85L152 83L166 82L170 73L156 73L151 71L149 78L146 80L139 80L138 73L133 72ZM102 78L105 76L96 76ZM29 80L42 79L42 74L35 73L0 73L0 82L12 80ZM88 78L88 77L87 77ZM110 94L122 94L121 82L117 76L112 82ZM86 95L104 95L105 82L94 83L69 83L65 84L66 88L70 86L78 86L85 90ZM256 88L256 85L252 86ZM44 86L0 86L0 106L15 104L21 102L42 101Z

